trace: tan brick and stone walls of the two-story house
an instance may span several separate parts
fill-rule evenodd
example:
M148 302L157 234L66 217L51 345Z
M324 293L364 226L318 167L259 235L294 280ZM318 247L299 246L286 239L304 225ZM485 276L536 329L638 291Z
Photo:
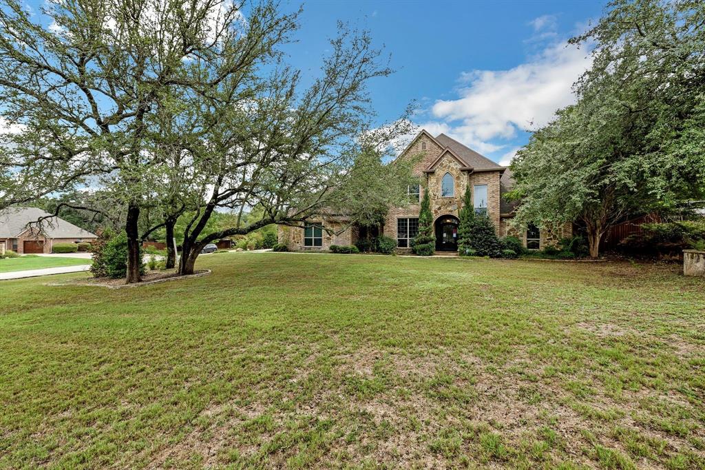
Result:
M469 149L466 149L469 150ZM419 217L420 199L424 197L424 191L429 191L431 199L431 212L434 217L434 222L439 217L453 215L458 217L460 208L462 207L462 196L465 194L465 188L468 185L487 186L487 214L493 222L498 236L506 236L512 234L521 239L526 245L526 232L519 234L515 229L510 227L507 217L502 217L500 210L501 202L501 185L500 179L503 174L503 167L498 167L496 164L489 162L494 167L489 169L474 169L467 167L467 164L458 154L453 152L450 147L443 147L429 133L422 131L407 149L398 157L415 159L415 164L412 167L412 173L419 179L419 201L410 203L405 207L391 207L384 221L384 227L381 227L381 233L393 239L397 238L397 220L400 218L416 218ZM482 158L482 157L481 157ZM485 159L486 161L486 159ZM441 195L441 184L445 174L453 176L453 196L443 197ZM471 190L474 197L474 191ZM343 225L332 220L319 219L316 222L322 222L324 227L332 231L339 231ZM553 233L547 230L541 230L541 248L548 245L556 244L558 240L564 236L570 236L572 233L571 224L565 226ZM323 246L317 248L307 248L303 242L303 229L292 227L280 227L279 242L285 243L290 250L293 251L321 251L327 250L331 245L351 245L357 241L357 236L354 227L350 227L341 234L326 234L323 236ZM400 248L400 252L409 251L405 248Z

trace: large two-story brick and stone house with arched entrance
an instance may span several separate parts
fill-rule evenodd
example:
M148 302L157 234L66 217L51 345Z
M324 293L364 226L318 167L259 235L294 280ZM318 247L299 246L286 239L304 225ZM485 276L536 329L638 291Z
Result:
M539 249L572 233L572 224L565 224L559 233L537 227L517 233L509 224L515 203L502 197L514 184L510 170L448 135L434 137L422 130L397 159L414 157L419 157L412 170L419 178L419 184L408 188L410 204L390 207L384 225L379 229L381 234L397 240L400 251L410 250L411 241L417 234L419 202L424 188L430 191L437 251L458 249L458 212L468 185L475 212L489 215L499 236L514 235L527 248ZM312 218L304 228L280 227L279 242L285 243L290 250L326 250L331 245L353 244L360 234L354 225L340 234L329 234L324 227L338 233L345 224L340 217Z

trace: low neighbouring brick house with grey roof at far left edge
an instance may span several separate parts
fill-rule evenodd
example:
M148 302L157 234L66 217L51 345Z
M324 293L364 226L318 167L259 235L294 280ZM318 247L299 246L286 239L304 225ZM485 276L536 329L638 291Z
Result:
M41 217L49 218L37 224ZM10 207L0 212L0 244L20 254L51 253L54 243L78 243L97 238L90 231L51 217L37 207Z

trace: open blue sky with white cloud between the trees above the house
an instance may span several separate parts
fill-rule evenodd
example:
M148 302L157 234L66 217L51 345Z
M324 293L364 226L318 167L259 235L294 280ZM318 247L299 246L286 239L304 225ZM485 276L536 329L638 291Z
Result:
M298 2L284 4L298 7ZM599 18L601 1L307 1L290 63L318 73L337 20L368 29L396 73L370 91L379 123L412 100L413 120L508 163L530 129L572 102L589 66L566 41Z

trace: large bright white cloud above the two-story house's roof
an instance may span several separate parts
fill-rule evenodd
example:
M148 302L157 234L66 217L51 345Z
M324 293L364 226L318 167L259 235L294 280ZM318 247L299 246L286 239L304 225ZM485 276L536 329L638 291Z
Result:
M465 135L464 143L493 145L487 141L544 126L557 109L575 102L572 84L590 60L584 49L557 44L509 70L463 73L460 98L440 100L431 111L446 124L458 121L453 132Z

